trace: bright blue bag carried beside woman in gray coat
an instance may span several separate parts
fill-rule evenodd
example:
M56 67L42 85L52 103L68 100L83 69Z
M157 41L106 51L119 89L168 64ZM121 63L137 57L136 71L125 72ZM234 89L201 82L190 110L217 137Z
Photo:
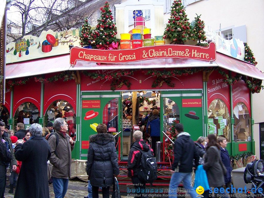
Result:
M193 188L196 189L198 186L202 186L204 188L204 191L209 190L210 188L206 171L204 170L203 165L197 166L195 171L195 180Z

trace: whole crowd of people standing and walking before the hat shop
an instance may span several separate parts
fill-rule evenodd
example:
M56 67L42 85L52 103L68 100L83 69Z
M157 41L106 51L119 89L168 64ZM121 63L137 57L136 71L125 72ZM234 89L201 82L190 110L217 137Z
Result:
M153 119L149 119L148 123L151 125L151 137L155 137L152 122L159 121L157 112L153 110ZM74 148L74 141L67 134L68 125L65 119L57 118L54 123L49 122L47 127L33 123L26 130L24 124L17 123L16 132L9 130L5 123L0 121L0 129L0 196L4 197L6 168L9 167L12 170L9 178L9 193L13 193L15 189L14 197L49 197L47 163L51 163L55 198L64 197L71 175L71 151ZM89 137L86 167L89 194L85 198L98 198L99 188L104 198L109 197L109 187L114 184L114 176L119 176L115 138L107 133L105 124L99 124L96 129L97 134ZM55 133L52 133L53 131ZM221 188L224 185L231 187L232 168L225 138L216 139L214 134L209 134L206 138L199 137L197 142L194 142L190 134L184 132L181 123L175 124L175 134L177 138L170 170L172 175L169 197L177 197L180 182L183 182L183 187L191 197L197 197L198 194L191 186L191 176L198 165L202 165L206 171L210 187ZM128 155L127 175L131 177L134 188L137 189L136 196L145 197L146 182L139 177L142 169L142 153L150 152L154 157L155 148L143 140L142 131L135 131L133 140ZM28 190L29 186L30 190ZM209 190L202 195L211 196ZM227 194L225 192L216 194L216 197L223 196Z

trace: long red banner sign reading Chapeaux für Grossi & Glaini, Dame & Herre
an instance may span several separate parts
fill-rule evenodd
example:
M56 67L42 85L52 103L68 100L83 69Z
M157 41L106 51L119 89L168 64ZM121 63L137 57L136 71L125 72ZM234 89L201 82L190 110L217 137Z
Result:
M70 51L70 64L77 60L97 63L125 63L157 58L187 58L194 60L216 60L214 42L209 47L192 45L155 45L126 50L99 50L73 47Z

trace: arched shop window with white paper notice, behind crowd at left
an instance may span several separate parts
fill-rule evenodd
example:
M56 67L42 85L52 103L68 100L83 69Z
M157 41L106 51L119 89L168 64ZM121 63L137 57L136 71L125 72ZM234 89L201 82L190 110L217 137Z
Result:
M31 102L25 102L18 106L14 116L14 126L17 123L24 123L25 130L33 123L38 123L40 114L35 104Z

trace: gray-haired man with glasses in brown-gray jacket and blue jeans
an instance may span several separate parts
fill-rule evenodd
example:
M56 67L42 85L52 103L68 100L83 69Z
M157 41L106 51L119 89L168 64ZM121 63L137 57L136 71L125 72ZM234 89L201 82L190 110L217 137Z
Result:
M66 133L68 124L63 118L55 119L54 123L55 134L48 139L51 151L50 163L54 166L51 178L53 181L53 191L55 198L64 197L68 182L71 176L71 163L74 142ZM56 138L59 138L59 143L56 145Z

